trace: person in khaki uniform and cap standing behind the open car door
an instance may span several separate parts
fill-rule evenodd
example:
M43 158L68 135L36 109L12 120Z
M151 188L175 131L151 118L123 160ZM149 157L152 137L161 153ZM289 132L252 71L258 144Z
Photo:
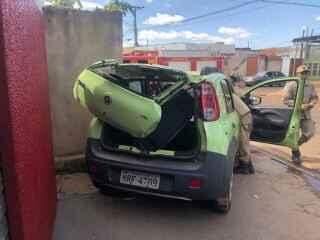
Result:
M300 120L300 138L299 146L306 143L314 136L315 122L311 118L311 109L318 103L318 95L314 85L308 80L310 70L306 65L301 65L297 68L297 76L305 80L304 97L301 105L301 120ZM283 102L288 106L293 106L297 85L294 81L288 82L284 87ZM299 148L292 149L292 161L296 164L301 164L301 153Z

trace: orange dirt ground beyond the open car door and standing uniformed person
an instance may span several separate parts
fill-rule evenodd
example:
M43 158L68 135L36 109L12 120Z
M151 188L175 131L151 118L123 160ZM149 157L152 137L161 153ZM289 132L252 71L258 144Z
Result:
M315 83L315 86L320 97L320 83ZM283 88L281 87L263 88L259 91L259 94L261 94L266 105L275 104L276 106L281 106L282 104ZM320 171L320 102L312 110L312 117L316 123L316 133L309 142L301 146L301 153L304 167ZM252 142L252 144L282 159L290 160L291 158L291 150L289 148L255 142Z

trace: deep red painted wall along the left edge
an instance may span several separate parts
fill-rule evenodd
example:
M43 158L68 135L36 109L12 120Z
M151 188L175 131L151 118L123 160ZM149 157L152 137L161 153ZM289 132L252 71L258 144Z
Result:
M56 187L41 10L0 1L0 152L11 240L51 239Z

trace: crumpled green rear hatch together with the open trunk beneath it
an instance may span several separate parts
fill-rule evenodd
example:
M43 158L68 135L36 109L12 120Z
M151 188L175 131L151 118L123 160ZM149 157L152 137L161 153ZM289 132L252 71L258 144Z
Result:
M194 95L182 71L114 61L90 66L74 87L81 105L105 123L105 147L144 154L194 151L199 138Z

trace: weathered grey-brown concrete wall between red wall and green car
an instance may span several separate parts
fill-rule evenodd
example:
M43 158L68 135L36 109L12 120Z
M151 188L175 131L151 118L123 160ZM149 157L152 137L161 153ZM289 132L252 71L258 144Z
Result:
M53 142L56 156L81 153L91 116L72 96L78 74L89 64L120 59L119 12L44 8Z

